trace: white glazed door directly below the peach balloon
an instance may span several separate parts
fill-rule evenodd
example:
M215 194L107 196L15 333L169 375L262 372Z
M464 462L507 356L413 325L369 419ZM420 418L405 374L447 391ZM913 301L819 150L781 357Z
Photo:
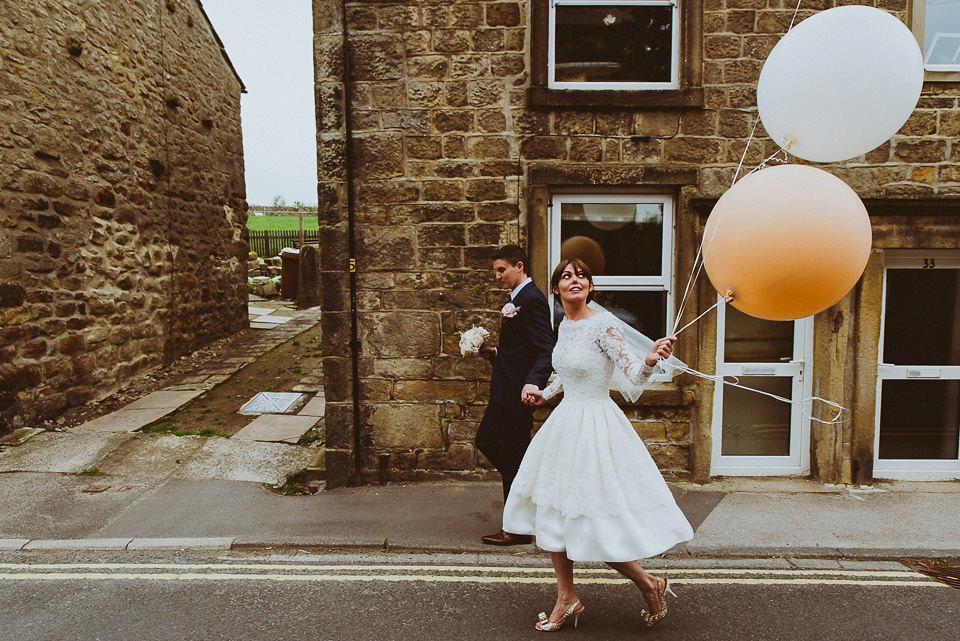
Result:
M810 470L810 420L800 407L751 390L799 401L810 396L813 318L767 321L721 304L717 375L750 390L717 384L713 401L712 475L786 476Z

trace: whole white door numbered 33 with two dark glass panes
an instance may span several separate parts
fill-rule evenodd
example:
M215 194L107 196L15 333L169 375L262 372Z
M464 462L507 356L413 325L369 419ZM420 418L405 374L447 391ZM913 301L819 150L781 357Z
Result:
M960 478L960 252L886 257L875 478Z

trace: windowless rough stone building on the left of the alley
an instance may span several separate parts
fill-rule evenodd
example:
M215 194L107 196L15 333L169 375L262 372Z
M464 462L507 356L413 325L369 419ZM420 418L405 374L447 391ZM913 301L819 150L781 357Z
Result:
M243 84L196 0L0 12L0 433L247 325Z

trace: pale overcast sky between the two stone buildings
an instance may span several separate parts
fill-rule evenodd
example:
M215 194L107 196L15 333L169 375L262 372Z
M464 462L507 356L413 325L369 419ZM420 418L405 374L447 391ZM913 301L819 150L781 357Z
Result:
M247 87L240 99L247 202L317 204L310 0L201 0Z

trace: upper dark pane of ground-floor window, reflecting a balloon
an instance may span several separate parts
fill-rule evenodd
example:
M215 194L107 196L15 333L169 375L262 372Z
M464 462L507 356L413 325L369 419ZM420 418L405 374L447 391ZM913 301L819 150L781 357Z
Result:
M567 242L569 241L569 242ZM594 276L660 276L663 273L661 203L563 203L560 254L582 258Z

